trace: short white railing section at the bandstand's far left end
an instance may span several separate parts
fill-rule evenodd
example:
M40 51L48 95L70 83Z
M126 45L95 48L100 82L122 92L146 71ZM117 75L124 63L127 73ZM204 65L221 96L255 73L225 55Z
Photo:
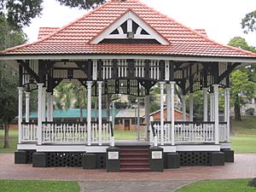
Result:
M37 142L38 141L38 125L34 123L21 124L21 142Z

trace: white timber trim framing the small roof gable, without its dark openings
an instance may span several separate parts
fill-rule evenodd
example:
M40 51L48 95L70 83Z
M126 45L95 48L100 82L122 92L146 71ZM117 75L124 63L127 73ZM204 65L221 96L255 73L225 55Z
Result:
M112 26L109 26L108 29L103 31L99 36L94 38L90 43L91 44L99 44L105 38L127 38L126 34L114 34L111 35L110 33L114 30L118 29L125 21L127 20L127 32L132 32L132 20L134 20L138 26L142 27L149 35L141 35L135 34L134 38L144 38L144 39L155 39L160 44L170 44L165 38L160 36L159 33L155 32L147 23L145 23L141 18L139 18L136 14L129 11L125 15L122 15L119 20L116 20ZM119 30L119 29L118 29Z

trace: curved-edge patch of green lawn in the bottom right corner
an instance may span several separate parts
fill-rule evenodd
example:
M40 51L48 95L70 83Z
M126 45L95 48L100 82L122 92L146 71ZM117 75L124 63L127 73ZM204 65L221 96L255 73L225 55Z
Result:
M256 191L254 187L248 187L251 179L211 180L191 183L178 189L176 192L243 192Z

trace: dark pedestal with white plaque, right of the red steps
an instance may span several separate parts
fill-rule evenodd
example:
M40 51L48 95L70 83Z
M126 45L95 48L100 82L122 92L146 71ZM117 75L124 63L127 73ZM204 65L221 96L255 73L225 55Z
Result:
M151 147L150 150L150 171L164 172L163 148Z

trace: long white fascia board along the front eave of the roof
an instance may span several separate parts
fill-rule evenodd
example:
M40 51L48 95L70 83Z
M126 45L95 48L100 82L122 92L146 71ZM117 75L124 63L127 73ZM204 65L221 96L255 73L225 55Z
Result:
M166 60L166 61L198 61L198 62L241 62L244 66L256 63L256 58L223 58L207 56L170 56L170 55L0 55L2 61L15 60L113 60L113 59L137 59L137 60Z

